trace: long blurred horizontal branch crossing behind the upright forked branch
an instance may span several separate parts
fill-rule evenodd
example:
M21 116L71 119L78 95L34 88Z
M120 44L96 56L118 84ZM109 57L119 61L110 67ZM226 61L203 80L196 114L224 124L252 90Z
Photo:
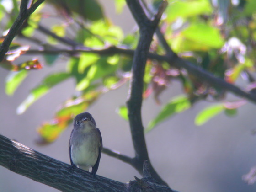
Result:
M168 44L167 44L168 45ZM169 47L170 48L170 47ZM171 48L170 48L171 49ZM49 49L49 50L35 50L31 49L28 50L27 54L59 54L59 53L68 53L68 54L75 54L75 53L96 53L100 55L114 55L114 54L125 54L129 56L134 55L134 50L132 49L125 49L125 48L118 48L115 46L111 46L108 48L103 49L91 49L91 48L74 48L74 49ZM251 92L246 92L240 89L238 86L233 85L221 79L219 77L214 76L212 73L204 70L203 68L192 64L189 61L186 61L180 58L176 53L171 53L168 51L166 55L158 55L155 53L148 53L149 59L155 59L158 61L165 61L170 64L172 67L176 67L178 69L184 68L190 75L195 75L200 77L202 81L207 82L209 85L219 87L226 91L230 91L234 93L236 96L244 97L253 103L256 103L256 95Z

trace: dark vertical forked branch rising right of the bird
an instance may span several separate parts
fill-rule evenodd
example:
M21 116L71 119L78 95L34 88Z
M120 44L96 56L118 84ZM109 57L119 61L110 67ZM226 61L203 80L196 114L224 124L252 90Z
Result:
M132 12L132 15L139 25L139 43L134 52L132 73L130 79L129 94L127 100L128 117L130 123L130 129L133 139L133 148L135 150L135 166L137 170L142 174L143 162L149 160L147 146L144 138L144 128L141 120L141 106L142 106L142 93L143 93L143 78L145 64L148 57L149 47L152 42L155 28L160 21L161 14L165 9L167 2L163 1L160 9L153 18L149 20L145 15L142 6L138 0L126 0L127 5ZM152 165L149 165L152 171L152 176L160 183L168 186L160 176L156 173Z

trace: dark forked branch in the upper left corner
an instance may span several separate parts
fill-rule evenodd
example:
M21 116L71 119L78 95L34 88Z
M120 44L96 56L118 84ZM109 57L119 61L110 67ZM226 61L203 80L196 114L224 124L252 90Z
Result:
M5 40L0 45L0 62L4 59L5 53L8 51L13 38L16 36L16 33L21 28L23 22L37 9L39 5L43 3L44 0L37 0L37 2L29 9L27 9L27 1L28 0L21 0L19 15L11 26Z

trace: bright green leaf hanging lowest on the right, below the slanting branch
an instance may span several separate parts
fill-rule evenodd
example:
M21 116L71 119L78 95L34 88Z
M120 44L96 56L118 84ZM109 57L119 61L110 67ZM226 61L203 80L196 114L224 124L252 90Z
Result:
M203 109L203 111L197 114L197 117L195 118L195 124L197 126L203 125L209 119L222 112L224 109L225 107L223 106L223 104L217 104Z

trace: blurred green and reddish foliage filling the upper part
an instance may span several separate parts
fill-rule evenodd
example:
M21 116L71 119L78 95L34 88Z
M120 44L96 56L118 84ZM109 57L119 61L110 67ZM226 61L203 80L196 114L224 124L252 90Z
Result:
M113 0L117 14L121 14L125 0ZM160 0L148 0L149 11L155 12ZM19 0L0 0L0 30L2 33L11 27L19 13ZM191 61L199 68L235 84L243 80L247 90L255 89L256 61L256 1L255 0L169 0L169 5L160 21L160 30L167 43L183 59ZM50 11L49 11L50 10ZM48 32L39 27L51 20L52 26L45 26ZM125 22L125 21L124 21ZM38 36L38 32L40 36ZM37 59L16 63L17 58L27 54L33 44L38 49L51 50L61 45L62 49L72 50L74 45L88 52L75 51L65 54L68 58L67 70L49 74L42 83L18 107L17 112L25 112L33 102L53 89L55 85L73 78L79 96L62 104L52 121L43 123L38 129L42 136L40 143L52 142L72 122L72 118L98 99L101 94L124 85L130 77L132 58L125 54L97 54L91 49L104 49L111 46L135 49L138 31L124 35L119 26L107 18L103 6L97 0L51 0L40 6L17 32L5 60L0 67L10 70L6 79L5 92L14 94L31 69L41 69L54 65L63 52L45 53L44 61ZM60 37L60 38L56 38ZM27 43L17 43L19 38L27 38ZM64 40L70 43L65 43ZM0 38L0 43L3 37ZM36 44L37 46L35 46ZM153 40L150 52L164 54L161 43ZM23 59L24 60L24 59ZM181 82L184 95L170 98L163 103L159 114L146 126L152 130L165 119L181 113L201 100L218 102L203 109L195 117L195 123L202 125L210 118L225 112L234 116L245 100L228 102L226 91L210 86L200 77L189 75L183 69L174 69L160 60L148 60L144 74L144 99L153 94L160 104L161 93L168 89L173 80ZM117 113L128 119L127 108L121 106Z

